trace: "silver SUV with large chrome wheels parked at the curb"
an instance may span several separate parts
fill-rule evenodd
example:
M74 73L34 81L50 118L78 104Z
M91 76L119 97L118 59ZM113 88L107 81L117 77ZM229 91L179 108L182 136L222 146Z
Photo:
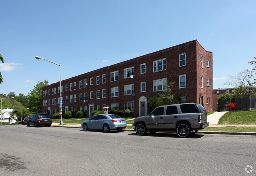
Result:
M156 107L149 115L134 119L137 135L147 131L176 131L179 137L187 137L209 126L207 112L197 103L171 104Z

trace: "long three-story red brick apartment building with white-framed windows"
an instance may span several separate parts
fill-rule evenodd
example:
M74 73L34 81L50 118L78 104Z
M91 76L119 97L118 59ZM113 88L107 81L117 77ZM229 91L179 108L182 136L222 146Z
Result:
M174 82L174 98L197 102L213 110L212 52L197 41L189 41L61 81L62 111L85 111L102 107L130 109L131 117L147 115L148 98ZM131 78L131 75L133 78ZM43 91L43 112L59 112L59 82Z

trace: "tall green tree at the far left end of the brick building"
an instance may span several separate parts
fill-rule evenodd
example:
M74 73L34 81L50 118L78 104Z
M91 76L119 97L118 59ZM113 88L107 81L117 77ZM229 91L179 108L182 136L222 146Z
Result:
M38 82L34 89L28 93L28 107L33 113L42 112L42 87L48 85L48 81Z

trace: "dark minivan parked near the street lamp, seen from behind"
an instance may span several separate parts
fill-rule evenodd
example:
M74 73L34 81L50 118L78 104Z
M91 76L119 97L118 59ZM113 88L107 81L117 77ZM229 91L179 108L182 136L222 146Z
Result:
M27 126L33 125L37 126L51 126L52 117L50 114L37 113L33 114L27 121Z

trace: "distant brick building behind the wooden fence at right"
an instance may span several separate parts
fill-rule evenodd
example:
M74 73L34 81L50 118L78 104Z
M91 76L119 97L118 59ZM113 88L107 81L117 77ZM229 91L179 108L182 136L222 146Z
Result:
M255 93L255 92L256 92L256 87L254 87L254 89L250 91L250 93ZM219 98L219 96L221 96L223 94L237 95L235 88L213 89L213 111L218 110L218 98Z

